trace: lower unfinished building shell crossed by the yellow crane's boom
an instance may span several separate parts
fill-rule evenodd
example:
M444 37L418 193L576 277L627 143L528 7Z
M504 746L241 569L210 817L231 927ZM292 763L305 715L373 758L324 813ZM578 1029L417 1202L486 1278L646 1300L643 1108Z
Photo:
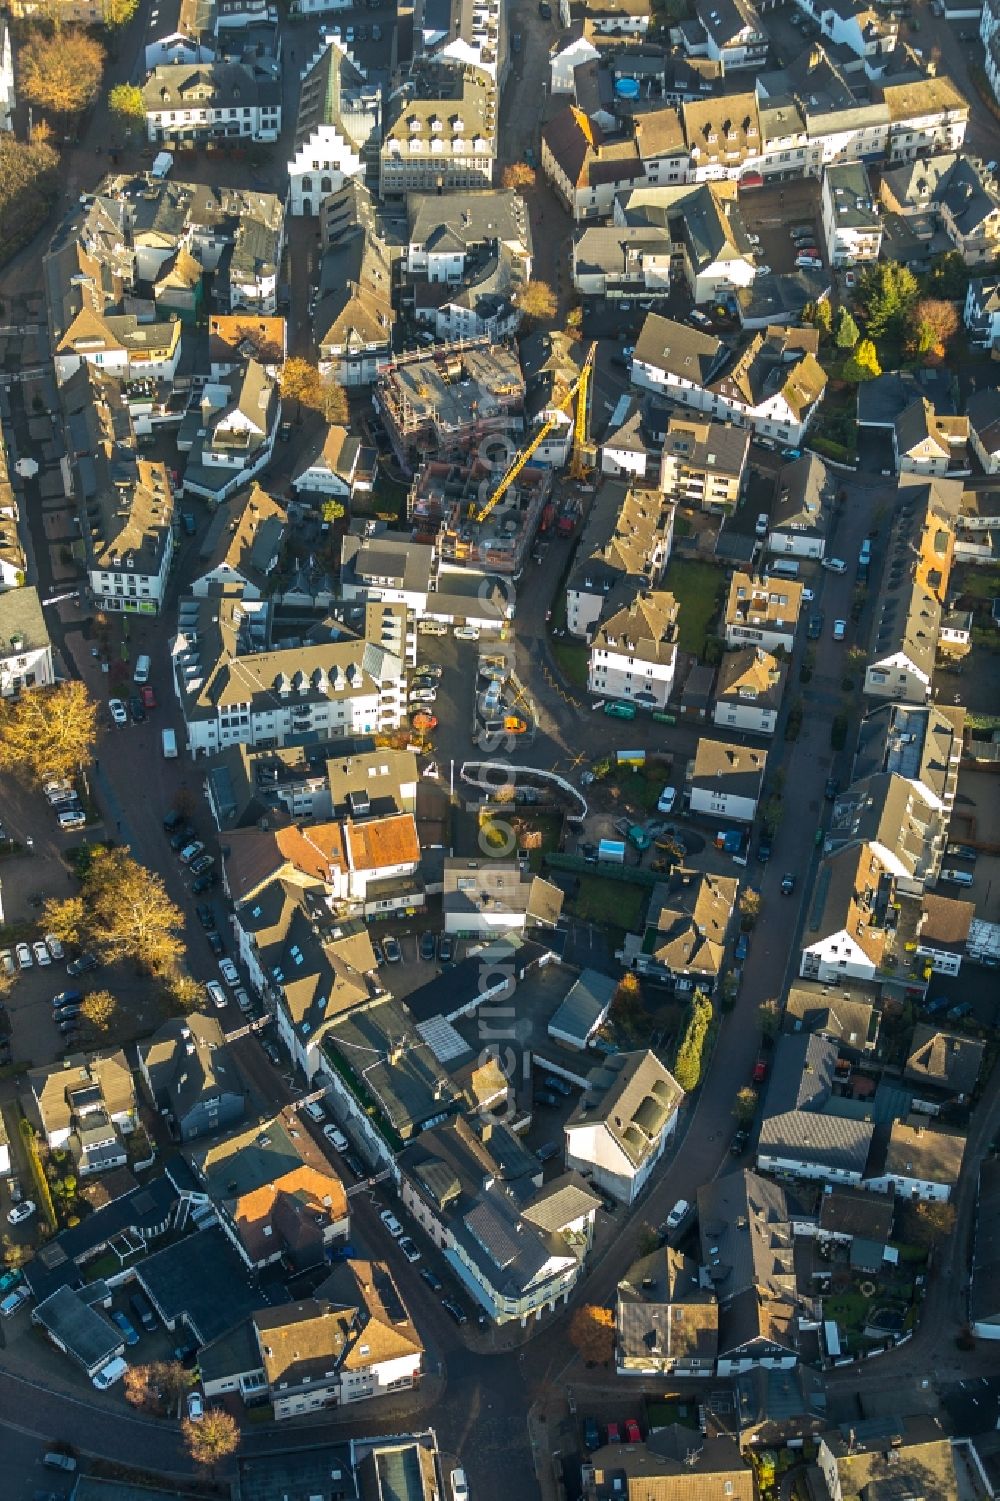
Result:
M407 515L414 537L437 539L443 563L517 573L539 527L547 530L553 506L551 470L526 467L502 500L480 518L503 467L482 458L449 464L429 459L410 486Z

